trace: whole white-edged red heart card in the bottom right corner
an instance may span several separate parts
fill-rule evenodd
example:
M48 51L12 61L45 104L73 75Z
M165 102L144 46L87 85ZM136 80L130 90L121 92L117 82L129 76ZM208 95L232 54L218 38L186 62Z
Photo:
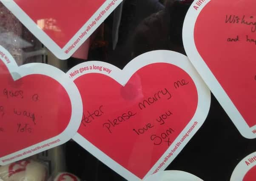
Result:
M255 181L256 178L256 152L242 159L234 169L230 181Z

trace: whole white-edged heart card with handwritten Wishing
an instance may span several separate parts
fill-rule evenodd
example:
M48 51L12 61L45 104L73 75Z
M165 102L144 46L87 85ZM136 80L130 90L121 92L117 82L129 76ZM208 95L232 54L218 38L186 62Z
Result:
M254 0L195 1L183 26L188 57L246 138L256 138L255 6Z

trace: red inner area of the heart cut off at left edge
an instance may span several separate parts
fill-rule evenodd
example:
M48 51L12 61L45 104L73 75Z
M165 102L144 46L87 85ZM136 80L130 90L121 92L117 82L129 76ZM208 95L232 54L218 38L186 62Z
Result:
M2 60L0 80L0 157L57 136L68 126L71 100L59 82L41 74L14 81Z

